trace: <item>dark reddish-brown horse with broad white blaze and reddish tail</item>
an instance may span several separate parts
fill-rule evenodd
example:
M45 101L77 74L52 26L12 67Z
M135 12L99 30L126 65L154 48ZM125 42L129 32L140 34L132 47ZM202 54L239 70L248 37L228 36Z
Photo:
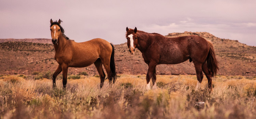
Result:
M193 61L197 74L196 90L200 88L203 73L208 79L208 88L212 90L212 77L216 75L218 63L212 43L197 35L168 38L158 33L146 33L126 28L127 46L130 53L138 48L145 63L148 65L146 75L147 89L150 89L152 78L156 88L156 65L179 64L189 59Z

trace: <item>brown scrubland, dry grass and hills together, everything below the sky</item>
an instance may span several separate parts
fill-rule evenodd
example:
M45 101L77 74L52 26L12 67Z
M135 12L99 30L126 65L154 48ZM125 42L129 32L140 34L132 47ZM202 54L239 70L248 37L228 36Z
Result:
M105 80L100 89L91 65L69 68L66 90L60 73L53 89L58 64L51 39L0 39L0 119L256 119L256 47L207 32L166 37L187 35L214 45L219 72L212 92L205 76L194 90L196 72L189 61L158 65L158 88L146 90L148 66L139 50L129 54L127 43L114 45L115 84Z

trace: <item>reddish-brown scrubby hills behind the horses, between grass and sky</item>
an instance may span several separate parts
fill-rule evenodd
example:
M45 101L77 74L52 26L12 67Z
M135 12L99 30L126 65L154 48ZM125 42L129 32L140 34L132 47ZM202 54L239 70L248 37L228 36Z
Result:
M207 32L170 33L166 37L199 35L212 41L221 75L248 75L256 73L256 47L239 43L237 40L222 39ZM8 41L0 39L0 74L31 74L33 71L55 71L58 64L54 60L54 47L51 39ZM126 40L124 38L124 40ZM49 42L48 42L49 41ZM44 44L50 43L50 44ZM144 63L141 52L135 50L131 55L127 43L114 45L115 63L118 74L146 74L148 66ZM86 71L90 75L98 75L94 65L86 68L69 68L69 74ZM186 61L177 65L157 65L157 74L196 74L194 64Z

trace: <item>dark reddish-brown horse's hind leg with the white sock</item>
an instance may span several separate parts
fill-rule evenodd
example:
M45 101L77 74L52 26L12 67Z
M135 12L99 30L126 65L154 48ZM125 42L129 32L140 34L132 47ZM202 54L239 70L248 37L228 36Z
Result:
M196 74L197 74L197 86L195 90L200 89L201 82L203 80L202 63L194 62Z

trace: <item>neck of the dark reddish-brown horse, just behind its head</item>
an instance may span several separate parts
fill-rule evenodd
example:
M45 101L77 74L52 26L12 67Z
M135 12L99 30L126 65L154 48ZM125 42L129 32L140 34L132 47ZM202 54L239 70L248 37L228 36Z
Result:
M137 33L138 37L138 49L143 53L148 45L151 35L148 33Z

